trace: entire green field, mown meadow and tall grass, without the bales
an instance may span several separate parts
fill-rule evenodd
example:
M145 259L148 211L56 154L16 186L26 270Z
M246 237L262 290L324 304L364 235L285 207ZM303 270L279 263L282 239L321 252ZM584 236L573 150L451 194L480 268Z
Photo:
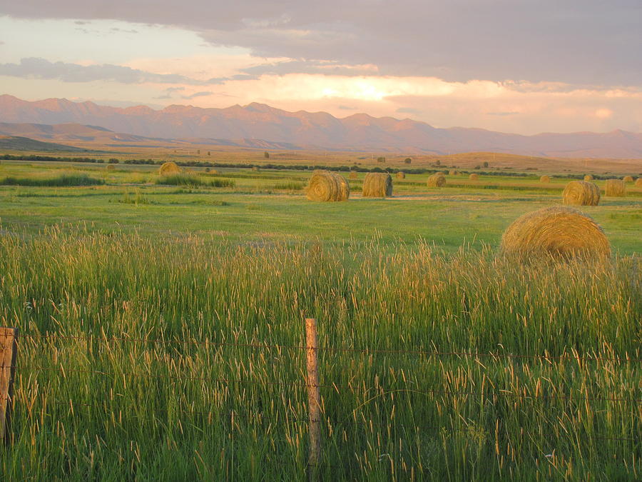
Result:
M522 266L501 233L568 179L322 204L310 172L157 169L0 164L5 478L302 479L305 317L323 480L642 477L642 189L581 207L608 263Z

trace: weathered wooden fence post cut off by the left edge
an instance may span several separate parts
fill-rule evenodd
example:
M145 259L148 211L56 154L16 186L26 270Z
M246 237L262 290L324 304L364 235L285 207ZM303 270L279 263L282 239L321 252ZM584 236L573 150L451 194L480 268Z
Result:
M18 328L0 328L0 437L8 442L14 403Z

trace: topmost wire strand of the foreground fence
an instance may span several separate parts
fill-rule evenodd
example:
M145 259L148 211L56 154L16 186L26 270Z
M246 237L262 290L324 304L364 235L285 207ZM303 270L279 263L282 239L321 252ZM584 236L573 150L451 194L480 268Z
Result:
M209 340L165 340L163 338L127 338L117 336L73 336L73 335L58 335L58 334L31 334L20 335L19 338L30 339L71 339L83 341L106 341L118 342L126 341L132 343L176 343L176 344L192 344L192 345L210 345L210 346L235 346L240 348L285 348L290 350L306 350L307 347L299 345L280 345L280 344L267 344L267 343L230 343L218 342ZM515 358L515 359L539 359L539 360L556 360L556 361L615 361L620 363L640 363L642 358L626 358L620 357L603 357L603 356L573 356L573 355L520 355L515 353L481 353L481 352L466 352L466 351L427 351L427 350L400 350L400 349L381 349L381 348L350 348L345 346L320 346L317 348L319 351L344 351L348 353L362 353L365 355L370 354L412 354L423 356L462 356L469 358Z

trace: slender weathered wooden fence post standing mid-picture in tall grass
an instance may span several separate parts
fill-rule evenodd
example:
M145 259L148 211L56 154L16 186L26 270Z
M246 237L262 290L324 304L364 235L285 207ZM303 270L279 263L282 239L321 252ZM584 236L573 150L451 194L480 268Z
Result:
M305 318L305 339L307 355L307 405L310 414L310 456L307 460L307 479L316 481L319 477L321 458L321 398L319 393L319 364L317 344L317 320Z

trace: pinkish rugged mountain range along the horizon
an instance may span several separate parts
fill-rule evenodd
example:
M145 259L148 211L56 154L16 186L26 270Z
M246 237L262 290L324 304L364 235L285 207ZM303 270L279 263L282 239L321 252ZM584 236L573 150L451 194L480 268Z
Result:
M523 136L463 127L438 129L412 119L375 118L367 114L339 119L327 112L288 112L257 103L225 109L172 105L155 110L148 106L121 108L67 99L24 101L0 95L0 122L4 123L0 133L13 136L31 136L29 130L35 130L40 133L34 136L37 139L73 141L75 135L82 138L88 131L91 136L100 136L102 132L111 139L111 145L183 139L257 149L426 154L493 151L530 156L642 159L642 134L628 131ZM47 134L46 126L52 124L74 126L64 129L51 126ZM10 125L14 127L9 128ZM56 137L56 130L65 135Z

